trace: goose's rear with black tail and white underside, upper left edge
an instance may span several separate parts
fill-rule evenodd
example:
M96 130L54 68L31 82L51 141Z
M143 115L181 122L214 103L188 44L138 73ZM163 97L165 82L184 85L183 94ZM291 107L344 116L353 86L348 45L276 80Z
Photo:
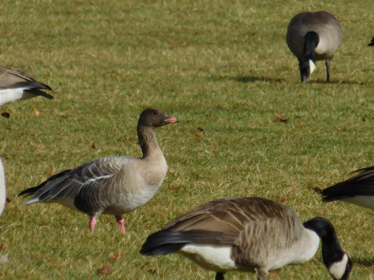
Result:
M52 90L25 73L0 66L0 106L38 95L53 99L53 96L40 89Z

